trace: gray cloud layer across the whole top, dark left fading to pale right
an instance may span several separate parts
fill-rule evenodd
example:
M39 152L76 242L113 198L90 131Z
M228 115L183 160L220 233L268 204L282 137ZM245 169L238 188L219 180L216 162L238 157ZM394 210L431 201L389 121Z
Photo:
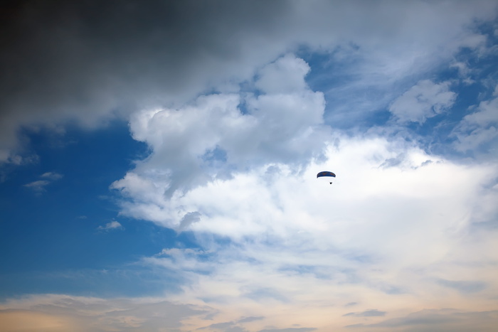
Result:
M392 91L460 48L485 44L472 23L492 20L496 2L474 3L11 4L1 22L8 32L1 40L0 157L19 155L21 126L73 121L93 128L137 109L177 109L206 91L238 91L255 68L303 46L355 60L349 67L357 79L326 94L341 101L331 119L347 111L360 119L372 103L359 92L379 85ZM270 77L260 87L270 87Z

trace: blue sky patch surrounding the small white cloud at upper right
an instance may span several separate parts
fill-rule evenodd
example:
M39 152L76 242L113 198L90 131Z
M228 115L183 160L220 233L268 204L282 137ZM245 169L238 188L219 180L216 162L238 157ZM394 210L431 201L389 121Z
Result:
M411 86L415 85L418 80L431 80L438 84L441 82L450 82L450 91L455 92L455 102L449 109L441 114L427 117L424 122L407 122L401 124L398 129L391 127L392 134L402 134L411 141L413 139L420 143L420 146L431 153L441 154L450 158L465 158L474 156L475 151L456 151L452 147L455 141L455 135L452 135L455 127L462 119L472 112L482 100L492 97L492 93L498 81L498 53L496 52L497 36L494 30L489 26L480 28L480 33L487 36L486 51L471 50L462 48L454 55L452 62L441 63L437 68L423 73L418 73L418 77L406 77L402 82L398 82L399 94L405 89L408 91ZM354 55L355 48L347 50ZM307 82L312 90L325 92L327 100L327 109L325 119L327 124L337 129L356 128L368 130L370 127L390 126L395 121L393 114L388 111L388 107L393 102L389 99L390 94L386 92L386 85L376 87L373 85L363 85L356 77L356 70L351 70L355 65L361 63L361 58L355 56L334 58L332 53L312 53L310 50L303 48L300 56L309 63L311 72L307 75ZM463 69L458 67L462 64ZM353 73L353 74L351 74ZM341 87L344 85L344 88ZM332 90L344 90L344 95L337 95ZM363 112L361 116L355 116L354 107L362 108L361 100L369 101L371 109L369 112ZM351 110L347 112L347 117L338 115L344 105L351 105ZM359 112L361 113L361 112ZM345 113L344 113L345 114ZM480 149L483 152L492 148L492 142L482 144Z

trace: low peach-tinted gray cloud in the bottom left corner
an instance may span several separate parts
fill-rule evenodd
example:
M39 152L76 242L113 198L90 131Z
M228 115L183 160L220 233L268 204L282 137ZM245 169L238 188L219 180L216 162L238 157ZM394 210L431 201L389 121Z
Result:
M8 307L6 310L2 308ZM173 304L163 299L99 299L37 295L0 306L0 322L11 331L179 331L181 321L208 314L206 306Z

